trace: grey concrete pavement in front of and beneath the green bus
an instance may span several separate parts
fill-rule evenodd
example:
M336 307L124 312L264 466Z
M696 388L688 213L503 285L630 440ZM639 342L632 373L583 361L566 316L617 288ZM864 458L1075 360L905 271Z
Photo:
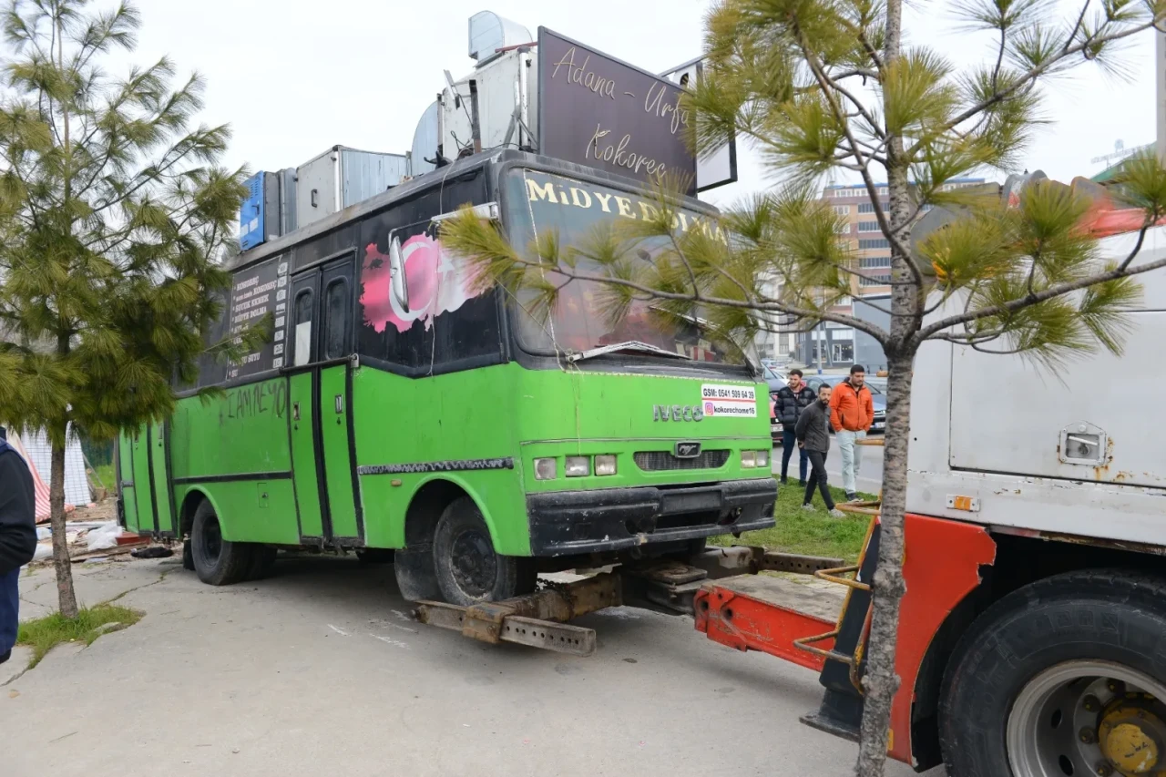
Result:
M591 615L581 623L599 650L575 658L420 625L392 567L276 567L212 588L174 559L75 566L85 602L128 592L119 603L146 616L89 648L58 648L0 688L0 730L13 735L0 771L850 774L855 744L798 722L820 700L813 672L718 646L689 618ZM22 575L21 589L26 614L47 611L51 569Z

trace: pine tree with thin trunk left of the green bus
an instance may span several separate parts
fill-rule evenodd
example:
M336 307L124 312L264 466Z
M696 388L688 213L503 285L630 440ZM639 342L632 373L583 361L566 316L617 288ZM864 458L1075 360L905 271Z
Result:
M245 170L217 164L229 128L191 128L202 79L175 86L166 58L106 72L103 60L134 49L141 19L125 4L89 6L9 5L0 102L0 422L48 433L65 617L77 615L66 435L107 440L160 421L171 384L195 382L245 194Z

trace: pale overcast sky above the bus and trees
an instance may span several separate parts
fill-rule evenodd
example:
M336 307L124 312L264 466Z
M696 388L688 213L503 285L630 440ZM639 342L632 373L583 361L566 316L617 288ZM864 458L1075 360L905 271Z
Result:
M1073 4L1056 0L1069 15ZM484 5L487 4L487 5ZM168 54L182 72L208 82L208 123L230 123L230 164L297 166L343 144L406 152L422 111L443 85L442 70L472 69L466 21L494 10L540 24L646 70L659 72L700 55L705 0L136 0L143 16L135 61ZM990 55L986 37L955 29L946 2L908 9L905 38L956 63ZM1154 139L1153 37L1128 47L1132 71L1121 80L1086 65L1048 89L1049 126L1028 150L1028 169L1068 182L1104 166L1090 159ZM766 186L747 150L740 182L709 192L725 202ZM997 176L999 177L999 176ZM840 178L838 182L845 182Z

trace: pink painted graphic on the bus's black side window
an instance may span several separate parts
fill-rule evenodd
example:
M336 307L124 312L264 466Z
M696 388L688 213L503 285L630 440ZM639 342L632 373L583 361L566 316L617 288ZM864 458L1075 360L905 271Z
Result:
M378 251L375 243L365 247L360 304L365 324L377 332L385 331L389 324L398 331L408 331L419 318L429 329L435 317L457 310L466 300L485 290L477 288L466 268L458 267L452 257L442 251L441 242L428 235L415 235L403 244L394 238L389 252L394 251L400 252L405 267L408 310L393 294L389 256Z

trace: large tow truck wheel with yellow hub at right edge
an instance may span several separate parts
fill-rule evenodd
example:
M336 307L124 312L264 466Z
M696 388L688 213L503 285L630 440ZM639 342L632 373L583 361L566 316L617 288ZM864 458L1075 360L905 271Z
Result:
M949 777L1159 774L1166 766L1166 581L1083 570L977 618L940 698Z

